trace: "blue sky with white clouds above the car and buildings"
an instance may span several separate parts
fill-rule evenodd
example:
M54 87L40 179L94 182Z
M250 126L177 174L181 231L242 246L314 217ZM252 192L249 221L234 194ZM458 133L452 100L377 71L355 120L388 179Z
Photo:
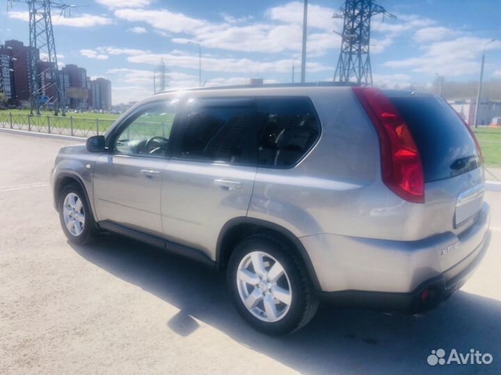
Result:
M164 60L173 88L202 83L299 81L302 1L75 0L71 16L53 11L58 63L77 64L90 77L111 80L113 104L153 92L152 71ZM396 19L377 15L371 25L375 85L501 78L501 0L379 0ZM310 0L306 81L332 81L339 56L344 1ZM27 5L0 10L0 42L29 41ZM337 32L337 33L336 33Z

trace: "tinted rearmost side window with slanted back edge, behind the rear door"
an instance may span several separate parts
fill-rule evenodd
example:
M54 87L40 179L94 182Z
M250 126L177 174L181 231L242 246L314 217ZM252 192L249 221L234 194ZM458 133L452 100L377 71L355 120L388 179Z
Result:
M295 165L315 143L320 126L307 98L257 99L258 158L262 167Z

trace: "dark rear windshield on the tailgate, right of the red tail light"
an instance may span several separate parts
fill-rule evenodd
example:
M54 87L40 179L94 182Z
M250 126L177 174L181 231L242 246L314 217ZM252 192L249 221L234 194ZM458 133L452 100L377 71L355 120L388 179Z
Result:
M431 182L479 167L475 141L450 106L436 97L390 97L420 152L424 181Z

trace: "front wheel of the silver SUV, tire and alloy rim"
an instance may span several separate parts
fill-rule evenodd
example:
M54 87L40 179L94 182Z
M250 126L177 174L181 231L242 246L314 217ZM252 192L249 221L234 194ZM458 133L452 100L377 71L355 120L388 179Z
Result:
M98 231L86 194L78 185L65 186L59 195L58 212L66 238L74 244L89 244Z

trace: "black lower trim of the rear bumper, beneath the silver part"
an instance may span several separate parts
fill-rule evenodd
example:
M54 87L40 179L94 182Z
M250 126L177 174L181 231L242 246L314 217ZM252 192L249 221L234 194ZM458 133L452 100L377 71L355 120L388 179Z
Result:
M371 292L363 290L342 290L339 292L321 292L325 301L335 306L351 308L369 308L380 311L398 311L402 313L420 313L436 307L459 290L472 276L479 263L487 252L491 241L491 231L487 231L479 244L470 255L459 264L447 269L434 278L422 282L412 292ZM426 294L426 299L424 299Z

